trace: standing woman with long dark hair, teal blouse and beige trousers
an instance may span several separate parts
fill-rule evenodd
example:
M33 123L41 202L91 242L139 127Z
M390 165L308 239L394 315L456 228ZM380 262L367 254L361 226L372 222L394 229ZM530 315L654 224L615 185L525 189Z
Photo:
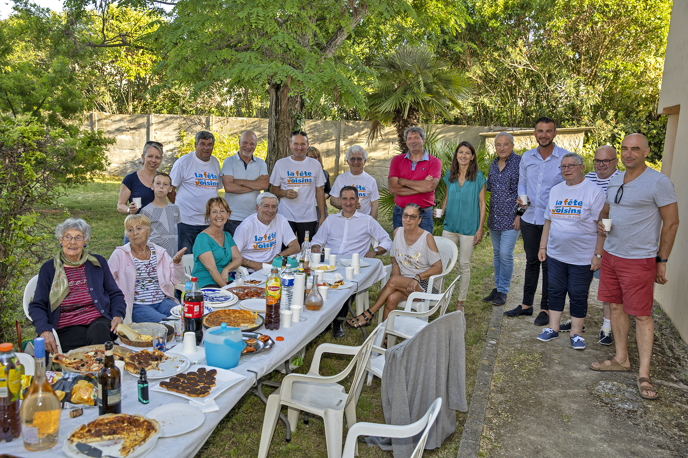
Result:
M447 196L442 202L446 237L459 249L459 299L463 308L471 281L471 255L473 247L482 240L485 225L485 176L477 168L475 148L469 141L462 141L454 150L451 167L444 175ZM460 309L457 309L460 310Z

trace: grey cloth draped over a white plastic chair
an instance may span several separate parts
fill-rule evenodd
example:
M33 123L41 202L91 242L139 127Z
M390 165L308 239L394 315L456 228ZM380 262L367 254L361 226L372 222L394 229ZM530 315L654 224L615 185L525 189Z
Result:
M456 431L456 411L468 411L466 402L466 320L452 312L432 321L412 339L385 354L382 400L386 424L411 424L420 419L436 398L442 410L430 430L425 448L442 446ZM408 458L418 437L367 437L369 446L392 450L394 458Z

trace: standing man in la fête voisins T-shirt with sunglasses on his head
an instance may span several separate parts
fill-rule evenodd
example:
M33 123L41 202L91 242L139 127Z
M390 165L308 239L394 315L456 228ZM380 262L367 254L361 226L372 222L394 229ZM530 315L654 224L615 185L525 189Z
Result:
M289 144L292 155L279 159L270 175L270 190L280 199L277 213L287 218L292 230L297 233L299 247L305 239L305 231L312 238L320 225L325 222L325 175L317 159L306 156L308 136L305 132L292 133ZM320 209L320 221L315 205Z

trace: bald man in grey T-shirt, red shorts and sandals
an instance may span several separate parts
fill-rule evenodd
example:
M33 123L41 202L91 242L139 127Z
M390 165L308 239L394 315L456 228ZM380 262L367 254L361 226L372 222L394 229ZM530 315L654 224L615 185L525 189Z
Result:
M654 322L654 284L667 283L667 258L678 229L678 204L669 177L647 167L647 138L631 134L621 142L626 171L612 177L597 231L606 236L597 299L612 308L616 354L590 365L594 371L630 371L628 315L636 321L638 342L638 393L656 399L659 393L649 378ZM612 220L607 232L603 219Z

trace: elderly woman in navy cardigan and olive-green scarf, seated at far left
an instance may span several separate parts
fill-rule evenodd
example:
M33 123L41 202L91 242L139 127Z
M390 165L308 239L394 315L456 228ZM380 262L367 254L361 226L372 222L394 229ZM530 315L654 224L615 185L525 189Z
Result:
M91 227L69 218L55 229L60 241L55 257L41 266L29 315L45 350L58 353L117 339L114 331L127 311L125 295L105 257L86 251Z

